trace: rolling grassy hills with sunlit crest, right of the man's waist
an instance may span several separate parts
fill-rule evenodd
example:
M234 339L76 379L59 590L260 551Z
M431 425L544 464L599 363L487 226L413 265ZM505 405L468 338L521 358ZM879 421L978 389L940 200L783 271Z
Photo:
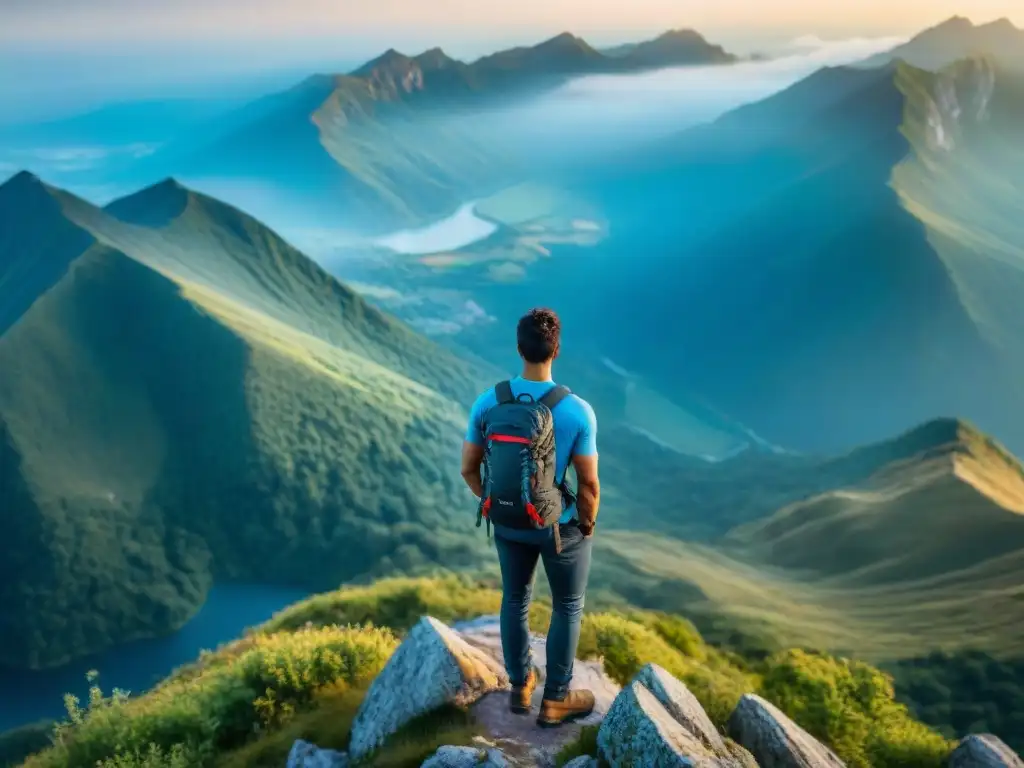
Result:
M732 478L726 496L715 474L684 464L673 474L663 456L657 474L677 488L662 494L664 535L607 521L621 588L639 604L647 594L686 611L719 638L738 629L885 663L939 650L1020 654L1024 467L1005 449L943 420L836 459L774 461L760 481L742 457L717 468L719 488ZM746 521L734 513L724 536L680 541L701 512L717 517L709 499L745 510ZM674 519L690 522L674 532Z

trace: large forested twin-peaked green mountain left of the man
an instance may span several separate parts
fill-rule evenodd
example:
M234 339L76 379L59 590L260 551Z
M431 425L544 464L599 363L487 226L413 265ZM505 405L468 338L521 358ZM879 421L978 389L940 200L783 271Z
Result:
M173 182L104 211L22 174L0 232L0 664L169 631L213 579L476 562L478 369Z

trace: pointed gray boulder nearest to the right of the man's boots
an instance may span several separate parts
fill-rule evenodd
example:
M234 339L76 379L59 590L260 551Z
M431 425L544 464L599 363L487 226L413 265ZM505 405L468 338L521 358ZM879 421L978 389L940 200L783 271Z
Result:
M654 694L634 681L615 697L597 734L601 755L616 768L743 768L716 752L675 720Z

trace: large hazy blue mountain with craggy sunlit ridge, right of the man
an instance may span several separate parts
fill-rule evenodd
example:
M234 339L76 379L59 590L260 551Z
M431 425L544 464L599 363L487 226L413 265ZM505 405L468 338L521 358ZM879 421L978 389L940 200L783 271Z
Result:
M595 315L606 354L790 447L962 414L1024 450L1022 85L987 58L823 71L582 179L615 212L599 295L644 296Z

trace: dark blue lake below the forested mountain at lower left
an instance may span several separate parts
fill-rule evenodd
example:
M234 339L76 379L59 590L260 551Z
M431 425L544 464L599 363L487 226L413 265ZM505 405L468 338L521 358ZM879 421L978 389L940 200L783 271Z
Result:
M99 686L108 695L113 688L141 693L195 660L201 650L233 640L246 628L262 624L307 595L297 589L220 585L210 591L193 620L168 637L128 643L53 670L0 672L0 731L61 717L65 693L87 701L89 670L99 672Z

